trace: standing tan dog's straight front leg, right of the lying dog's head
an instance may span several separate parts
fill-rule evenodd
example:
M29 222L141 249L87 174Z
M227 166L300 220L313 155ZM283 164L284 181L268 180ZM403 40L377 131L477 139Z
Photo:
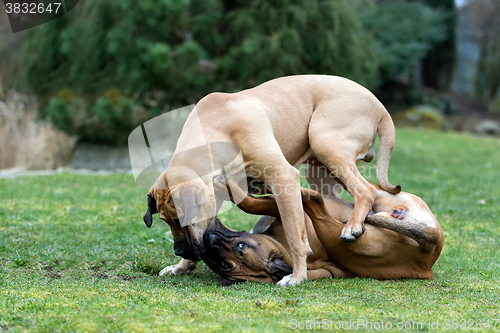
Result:
M285 237L293 259L293 273L278 282L280 287L307 280L306 257L311 254L300 193L300 174L295 168L271 185L278 204Z

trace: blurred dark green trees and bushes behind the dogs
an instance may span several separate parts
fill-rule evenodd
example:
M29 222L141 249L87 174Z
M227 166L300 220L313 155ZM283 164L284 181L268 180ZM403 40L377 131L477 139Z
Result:
M284 75L377 91L425 59L424 81L447 88L455 15L453 0L87 0L0 55L41 118L121 145L163 112Z

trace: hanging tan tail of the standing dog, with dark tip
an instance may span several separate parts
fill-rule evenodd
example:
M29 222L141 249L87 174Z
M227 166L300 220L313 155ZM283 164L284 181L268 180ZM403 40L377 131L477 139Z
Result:
M396 129L394 128L392 118L387 111L384 112L384 116L378 124L377 132L380 137L377 156L377 181L384 191L392 194L398 194L401 192L401 186L394 186L389 183L388 177L389 161L391 160L392 149L394 148L394 143L396 141Z

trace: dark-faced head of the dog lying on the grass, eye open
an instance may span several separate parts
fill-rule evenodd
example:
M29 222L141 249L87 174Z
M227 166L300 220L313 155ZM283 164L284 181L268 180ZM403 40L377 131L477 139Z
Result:
M203 261L223 284L242 282L277 282L292 273L279 250L259 236L223 228L210 229L203 236Z

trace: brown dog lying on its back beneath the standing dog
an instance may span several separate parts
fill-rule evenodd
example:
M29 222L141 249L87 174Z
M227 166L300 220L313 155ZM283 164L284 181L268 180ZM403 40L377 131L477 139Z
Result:
M217 179L214 186L230 192L229 179ZM337 197L302 188L307 235L313 254L307 258L307 279L322 277L371 277L376 279L432 279L432 266L443 248L443 230L429 207L419 197L378 189L374 215L366 218L365 233L354 243L340 239L353 204ZM205 263L227 279L277 282L292 271L276 201L270 197L246 195L231 184L231 201L243 198L243 211L263 216L250 233L235 232L222 224L204 235ZM270 223L270 220L272 222ZM270 225L270 226L269 226ZM269 226L269 227L267 227ZM267 229L266 229L267 228Z

